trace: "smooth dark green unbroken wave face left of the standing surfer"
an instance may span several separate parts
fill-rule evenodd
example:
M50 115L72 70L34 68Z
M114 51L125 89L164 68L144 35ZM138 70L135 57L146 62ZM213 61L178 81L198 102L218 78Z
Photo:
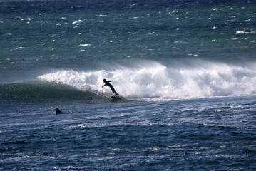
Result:
M91 100L98 99L96 93L81 91L65 84L48 81L29 81L23 83L0 84L0 98L9 100L40 101L40 100ZM102 98L102 97L101 97Z

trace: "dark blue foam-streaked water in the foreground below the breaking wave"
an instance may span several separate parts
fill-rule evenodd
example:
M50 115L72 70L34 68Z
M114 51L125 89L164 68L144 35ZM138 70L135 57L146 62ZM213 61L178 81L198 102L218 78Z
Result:
M3 170L256 167L255 97L43 104L1 114ZM76 113L49 113L57 104Z

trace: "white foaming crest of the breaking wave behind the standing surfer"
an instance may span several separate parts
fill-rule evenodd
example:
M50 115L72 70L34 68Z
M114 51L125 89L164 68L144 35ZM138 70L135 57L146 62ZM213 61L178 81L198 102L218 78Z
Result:
M113 80L116 91L136 98L202 98L256 93L255 66L229 66L225 63L204 63L203 67L168 67L152 62L137 68L116 71L58 71L39 78L55 81L80 90L111 93L101 88L103 78Z

